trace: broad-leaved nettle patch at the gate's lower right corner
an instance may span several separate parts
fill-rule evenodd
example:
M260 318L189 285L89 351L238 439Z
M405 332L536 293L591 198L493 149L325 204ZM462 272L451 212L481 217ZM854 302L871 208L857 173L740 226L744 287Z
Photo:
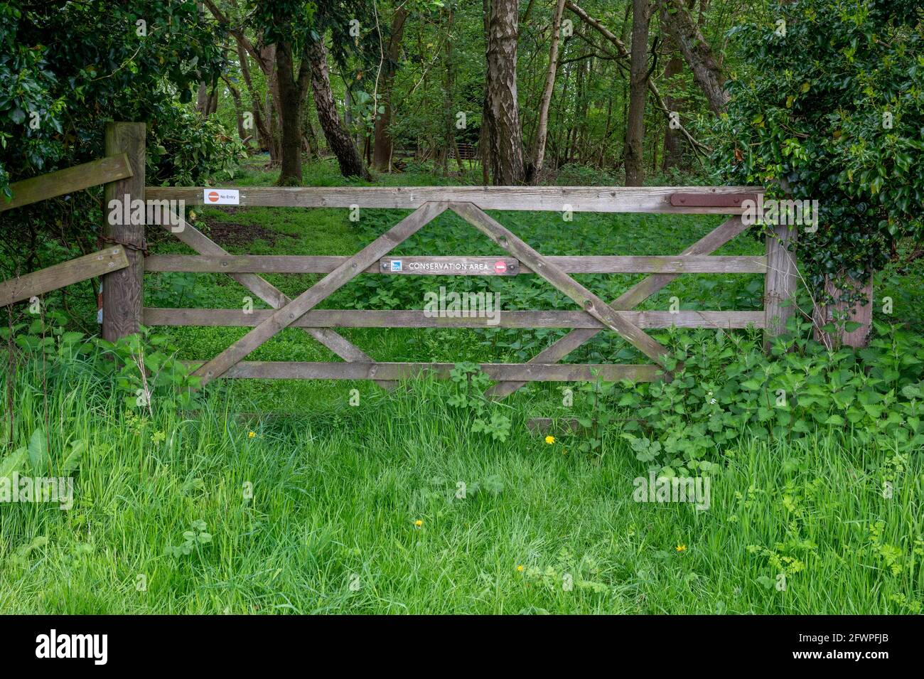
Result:
M744 335L676 330L666 361L673 379L620 382L600 407L626 417L620 436L665 476L717 472L745 432L767 441L832 434L894 453L920 450L924 337L876 325L868 348L829 351L804 338L811 323L791 319L770 357Z

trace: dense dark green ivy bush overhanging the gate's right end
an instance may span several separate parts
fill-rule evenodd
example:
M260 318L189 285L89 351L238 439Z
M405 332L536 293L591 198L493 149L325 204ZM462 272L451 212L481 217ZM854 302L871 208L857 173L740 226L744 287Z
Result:
M747 66L711 124L719 174L768 198L819 200L798 257L816 302L844 309L904 239L924 239L924 10L777 2L729 38Z

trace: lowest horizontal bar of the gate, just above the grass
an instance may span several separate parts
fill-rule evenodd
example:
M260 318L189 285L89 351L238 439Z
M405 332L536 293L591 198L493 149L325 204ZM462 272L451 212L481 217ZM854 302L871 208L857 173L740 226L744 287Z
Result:
M195 369L204 361L183 361ZM240 361L223 377L258 380L407 380L432 371L449 377L454 363L313 363L308 361ZM653 382L661 368L654 365L563 363L482 363L481 370L494 381L517 382Z

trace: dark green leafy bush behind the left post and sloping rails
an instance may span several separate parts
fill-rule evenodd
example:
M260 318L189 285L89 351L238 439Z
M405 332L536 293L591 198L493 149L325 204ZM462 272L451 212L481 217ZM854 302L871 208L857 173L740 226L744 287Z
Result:
M241 145L190 110L225 67L192 0L0 4L0 200L9 185L103 157L111 120L146 121L148 184L232 176ZM0 277L97 246L101 188L4 214Z

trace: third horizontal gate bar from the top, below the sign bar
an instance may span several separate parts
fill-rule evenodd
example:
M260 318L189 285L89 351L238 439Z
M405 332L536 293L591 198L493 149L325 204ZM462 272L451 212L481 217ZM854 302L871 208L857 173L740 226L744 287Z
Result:
M144 325L252 327L271 309L144 309ZM616 311L639 328L763 328L763 311ZM593 328L604 326L584 311L498 311L489 318L437 318L420 309L312 309L292 324L305 328Z

